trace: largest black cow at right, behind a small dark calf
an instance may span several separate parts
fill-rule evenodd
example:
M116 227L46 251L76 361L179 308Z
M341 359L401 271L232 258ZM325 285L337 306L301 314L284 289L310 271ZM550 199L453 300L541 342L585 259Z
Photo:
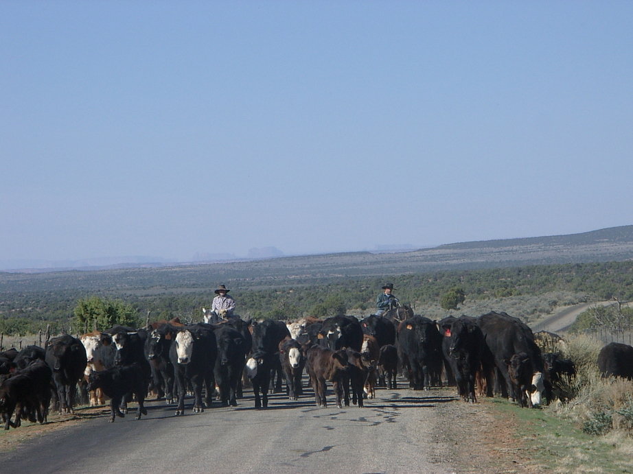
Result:
M529 357L533 375L531 386L532 406L541 403L543 384L543 360L540 348L536 345L531 329L518 318L507 313L491 311L476 318L477 325L485 338L482 366L485 373L487 396L492 396L492 367L500 373L500 390L503 396L518 400L520 394L515 393L507 360L515 354L525 353ZM503 383L505 382L505 383Z

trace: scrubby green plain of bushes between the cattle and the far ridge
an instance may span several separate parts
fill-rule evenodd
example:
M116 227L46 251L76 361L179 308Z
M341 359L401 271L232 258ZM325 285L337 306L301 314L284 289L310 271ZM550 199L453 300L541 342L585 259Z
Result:
M202 307L223 283L251 318L368 315L380 287L390 281L401 303L416 313L442 318L449 311L471 316L491 309L527 322L561 305L593 300L633 299L633 262L529 265L488 270L438 271L391 276L285 276L262 270L214 273L192 268L102 270L47 274L0 274L0 333L73 331L80 300L100 298L131 307L139 321L200 320ZM463 297L463 299L462 299ZM113 303L114 304L114 303ZM117 303L118 304L118 303ZM90 324L89 324L90 326ZM84 324L85 327L85 324Z

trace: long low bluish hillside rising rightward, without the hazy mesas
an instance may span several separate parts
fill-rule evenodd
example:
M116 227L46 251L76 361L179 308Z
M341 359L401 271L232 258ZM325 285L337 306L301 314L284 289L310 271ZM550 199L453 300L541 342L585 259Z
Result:
M279 257L253 261L172 265L162 268L120 268L45 273L0 273L1 292L90 291L162 292L197 289L220 281L240 281L241 287L275 287L281 282L310 285L323 279L384 277L439 270L478 270L523 265L592 263L633 259L633 226L573 235L531 237L447 244L435 248L373 254Z

